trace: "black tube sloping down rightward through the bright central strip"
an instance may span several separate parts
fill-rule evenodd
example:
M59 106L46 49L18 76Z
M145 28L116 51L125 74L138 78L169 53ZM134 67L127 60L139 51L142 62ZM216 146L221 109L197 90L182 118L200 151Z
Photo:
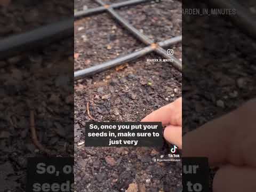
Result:
M95 0L95 2L99 3L102 6L106 6L105 3L103 3L101 0ZM137 30L136 28L134 28L132 25L130 25L129 22L127 22L125 19L123 19L119 14L117 14L114 9L112 9L111 7L107 7L107 11L119 22L121 23L121 25L123 27L125 27L127 30L129 30L135 37L137 37L138 39L140 39L141 42L145 43L146 45L150 45L150 44L154 44L153 41L151 41L151 39L149 39L147 36L143 35L142 33L140 33L139 30ZM162 47L156 47L156 49L154 50L155 52L157 52L158 54L162 55L163 57L165 57L166 59L170 59L173 60L172 65L174 68L178 69L179 71L182 70L182 64L181 62L175 58L173 55L168 55L167 51L165 51Z

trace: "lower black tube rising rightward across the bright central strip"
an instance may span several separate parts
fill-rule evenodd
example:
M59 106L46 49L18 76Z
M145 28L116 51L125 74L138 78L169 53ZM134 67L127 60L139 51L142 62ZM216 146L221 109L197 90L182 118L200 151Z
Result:
M93 66L93 67L78 70L74 73L75 80L81 79L81 78L84 78L87 76L91 76L91 75L100 73L102 71L105 71L107 69L121 65L125 62L129 62L129 61L138 59L138 58L142 57L143 55L153 52L156 49L156 47L158 47L158 46L159 47L170 46L172 44L181 42L181 40L182 40L181 36L173 37L173 38L167 39L166 41L159 42L158 44L155 44L155 46L150 45L150 46L143 48L140 51L136 51L136 52L127 54L123 57L118 57L116 59L101 63L101 64Z

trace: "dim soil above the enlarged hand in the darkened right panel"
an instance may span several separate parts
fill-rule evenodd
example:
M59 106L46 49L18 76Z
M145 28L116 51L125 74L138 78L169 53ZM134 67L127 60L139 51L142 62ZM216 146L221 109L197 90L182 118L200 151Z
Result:
M250 1L243 4L253 7ZM207 6L187 1L184 7ZM256 98L256 43L228 16L185 16L182 22L182 131L186 133Z

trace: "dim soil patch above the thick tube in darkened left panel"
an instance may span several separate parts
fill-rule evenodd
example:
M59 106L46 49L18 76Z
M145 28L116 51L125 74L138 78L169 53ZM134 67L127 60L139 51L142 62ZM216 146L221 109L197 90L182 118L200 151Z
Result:
M72 14L71 1L12 0L9 6L0 7L0 38L47 25Z

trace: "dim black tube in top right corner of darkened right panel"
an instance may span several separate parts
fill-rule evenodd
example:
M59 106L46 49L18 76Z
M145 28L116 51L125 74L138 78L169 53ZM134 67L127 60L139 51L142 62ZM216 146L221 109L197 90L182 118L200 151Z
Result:
M236 14L230 15L232 22L241 28L245 34L251 36L252 38L256 38L255 14L250 13L249 10L234 0L210 0L209 3L222 9L235 9Z

